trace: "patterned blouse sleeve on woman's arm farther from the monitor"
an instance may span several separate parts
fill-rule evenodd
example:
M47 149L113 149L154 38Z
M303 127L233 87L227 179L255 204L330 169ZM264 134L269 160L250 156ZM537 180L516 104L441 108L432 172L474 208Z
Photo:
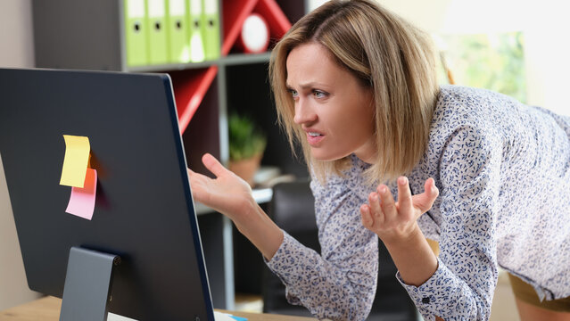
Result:
M446 141L440 163L439 266L425 284L401 284L425 320L487 320L498 278L500 138L464 126Z

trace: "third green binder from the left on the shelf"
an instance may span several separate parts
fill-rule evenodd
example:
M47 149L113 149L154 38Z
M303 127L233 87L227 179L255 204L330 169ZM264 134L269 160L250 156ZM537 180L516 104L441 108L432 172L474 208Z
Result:
M169 35L169 62L190 62L190 38L186 0L167 0L167 34Z

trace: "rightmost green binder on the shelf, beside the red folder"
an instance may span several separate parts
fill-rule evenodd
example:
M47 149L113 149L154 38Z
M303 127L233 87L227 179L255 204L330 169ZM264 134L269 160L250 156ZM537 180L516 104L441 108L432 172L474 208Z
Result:
M202 40L204 59L219 58L219 0L202 0Z

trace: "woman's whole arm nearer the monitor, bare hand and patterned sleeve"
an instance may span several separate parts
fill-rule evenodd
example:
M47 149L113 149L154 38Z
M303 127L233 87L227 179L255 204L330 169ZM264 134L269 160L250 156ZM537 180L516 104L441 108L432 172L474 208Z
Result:
M363 228L357 196L340 180L311 188L316 199L321 254L297 242L253 201L251 188L211 155L202 157L215 179L188 169L194 199L225 214L268 259L287 299L318 318L365 320L376 292L377 237Z

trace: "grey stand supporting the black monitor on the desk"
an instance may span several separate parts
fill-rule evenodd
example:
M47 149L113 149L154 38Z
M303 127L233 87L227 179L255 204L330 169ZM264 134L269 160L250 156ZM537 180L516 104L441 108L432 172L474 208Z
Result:
M70 249L60 321L106 321L113 267L120 257L80 247Z

